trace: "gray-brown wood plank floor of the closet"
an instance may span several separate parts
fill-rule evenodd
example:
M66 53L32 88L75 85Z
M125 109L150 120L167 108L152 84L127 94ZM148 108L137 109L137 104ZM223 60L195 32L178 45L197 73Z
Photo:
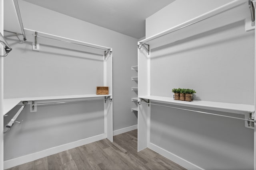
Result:
M137 152L137 130L66 150L8 170L185 170L160 154Z

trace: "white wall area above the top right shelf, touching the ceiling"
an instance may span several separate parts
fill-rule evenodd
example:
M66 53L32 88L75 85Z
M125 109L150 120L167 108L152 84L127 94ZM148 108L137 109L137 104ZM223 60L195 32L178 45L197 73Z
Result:
M176 0L146 18L146 38L232 1L233 0Z

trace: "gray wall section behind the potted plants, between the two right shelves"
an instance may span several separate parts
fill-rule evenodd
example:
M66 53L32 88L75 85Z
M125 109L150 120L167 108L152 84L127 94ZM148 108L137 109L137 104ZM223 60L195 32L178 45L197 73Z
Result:
M192 88L197 100L254 104L254 32L244 21L152 49L150 64L152 96Z

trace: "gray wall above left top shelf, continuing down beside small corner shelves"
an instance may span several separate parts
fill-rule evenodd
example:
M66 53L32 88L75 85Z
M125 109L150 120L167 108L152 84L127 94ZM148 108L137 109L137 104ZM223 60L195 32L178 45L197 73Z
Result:
M25 28L113 49L114 130L137 124L130 114L130 67L137 62L137 39L58 12L19 1ZM33 15L32 15L33 14Z

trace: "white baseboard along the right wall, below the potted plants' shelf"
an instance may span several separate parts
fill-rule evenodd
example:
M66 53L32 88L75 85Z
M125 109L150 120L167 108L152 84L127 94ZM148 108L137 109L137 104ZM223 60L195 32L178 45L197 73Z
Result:
M173 154L165 149L162 149L152 143L148 143L148 148L151 150L154 150L155 152L159 153L160 155L172 160L176 164L179 164L180 166L183 166L184 168L188 170L204 170L203 168L192 164L191 162L181 158L180 156L177 156L176 154Z

